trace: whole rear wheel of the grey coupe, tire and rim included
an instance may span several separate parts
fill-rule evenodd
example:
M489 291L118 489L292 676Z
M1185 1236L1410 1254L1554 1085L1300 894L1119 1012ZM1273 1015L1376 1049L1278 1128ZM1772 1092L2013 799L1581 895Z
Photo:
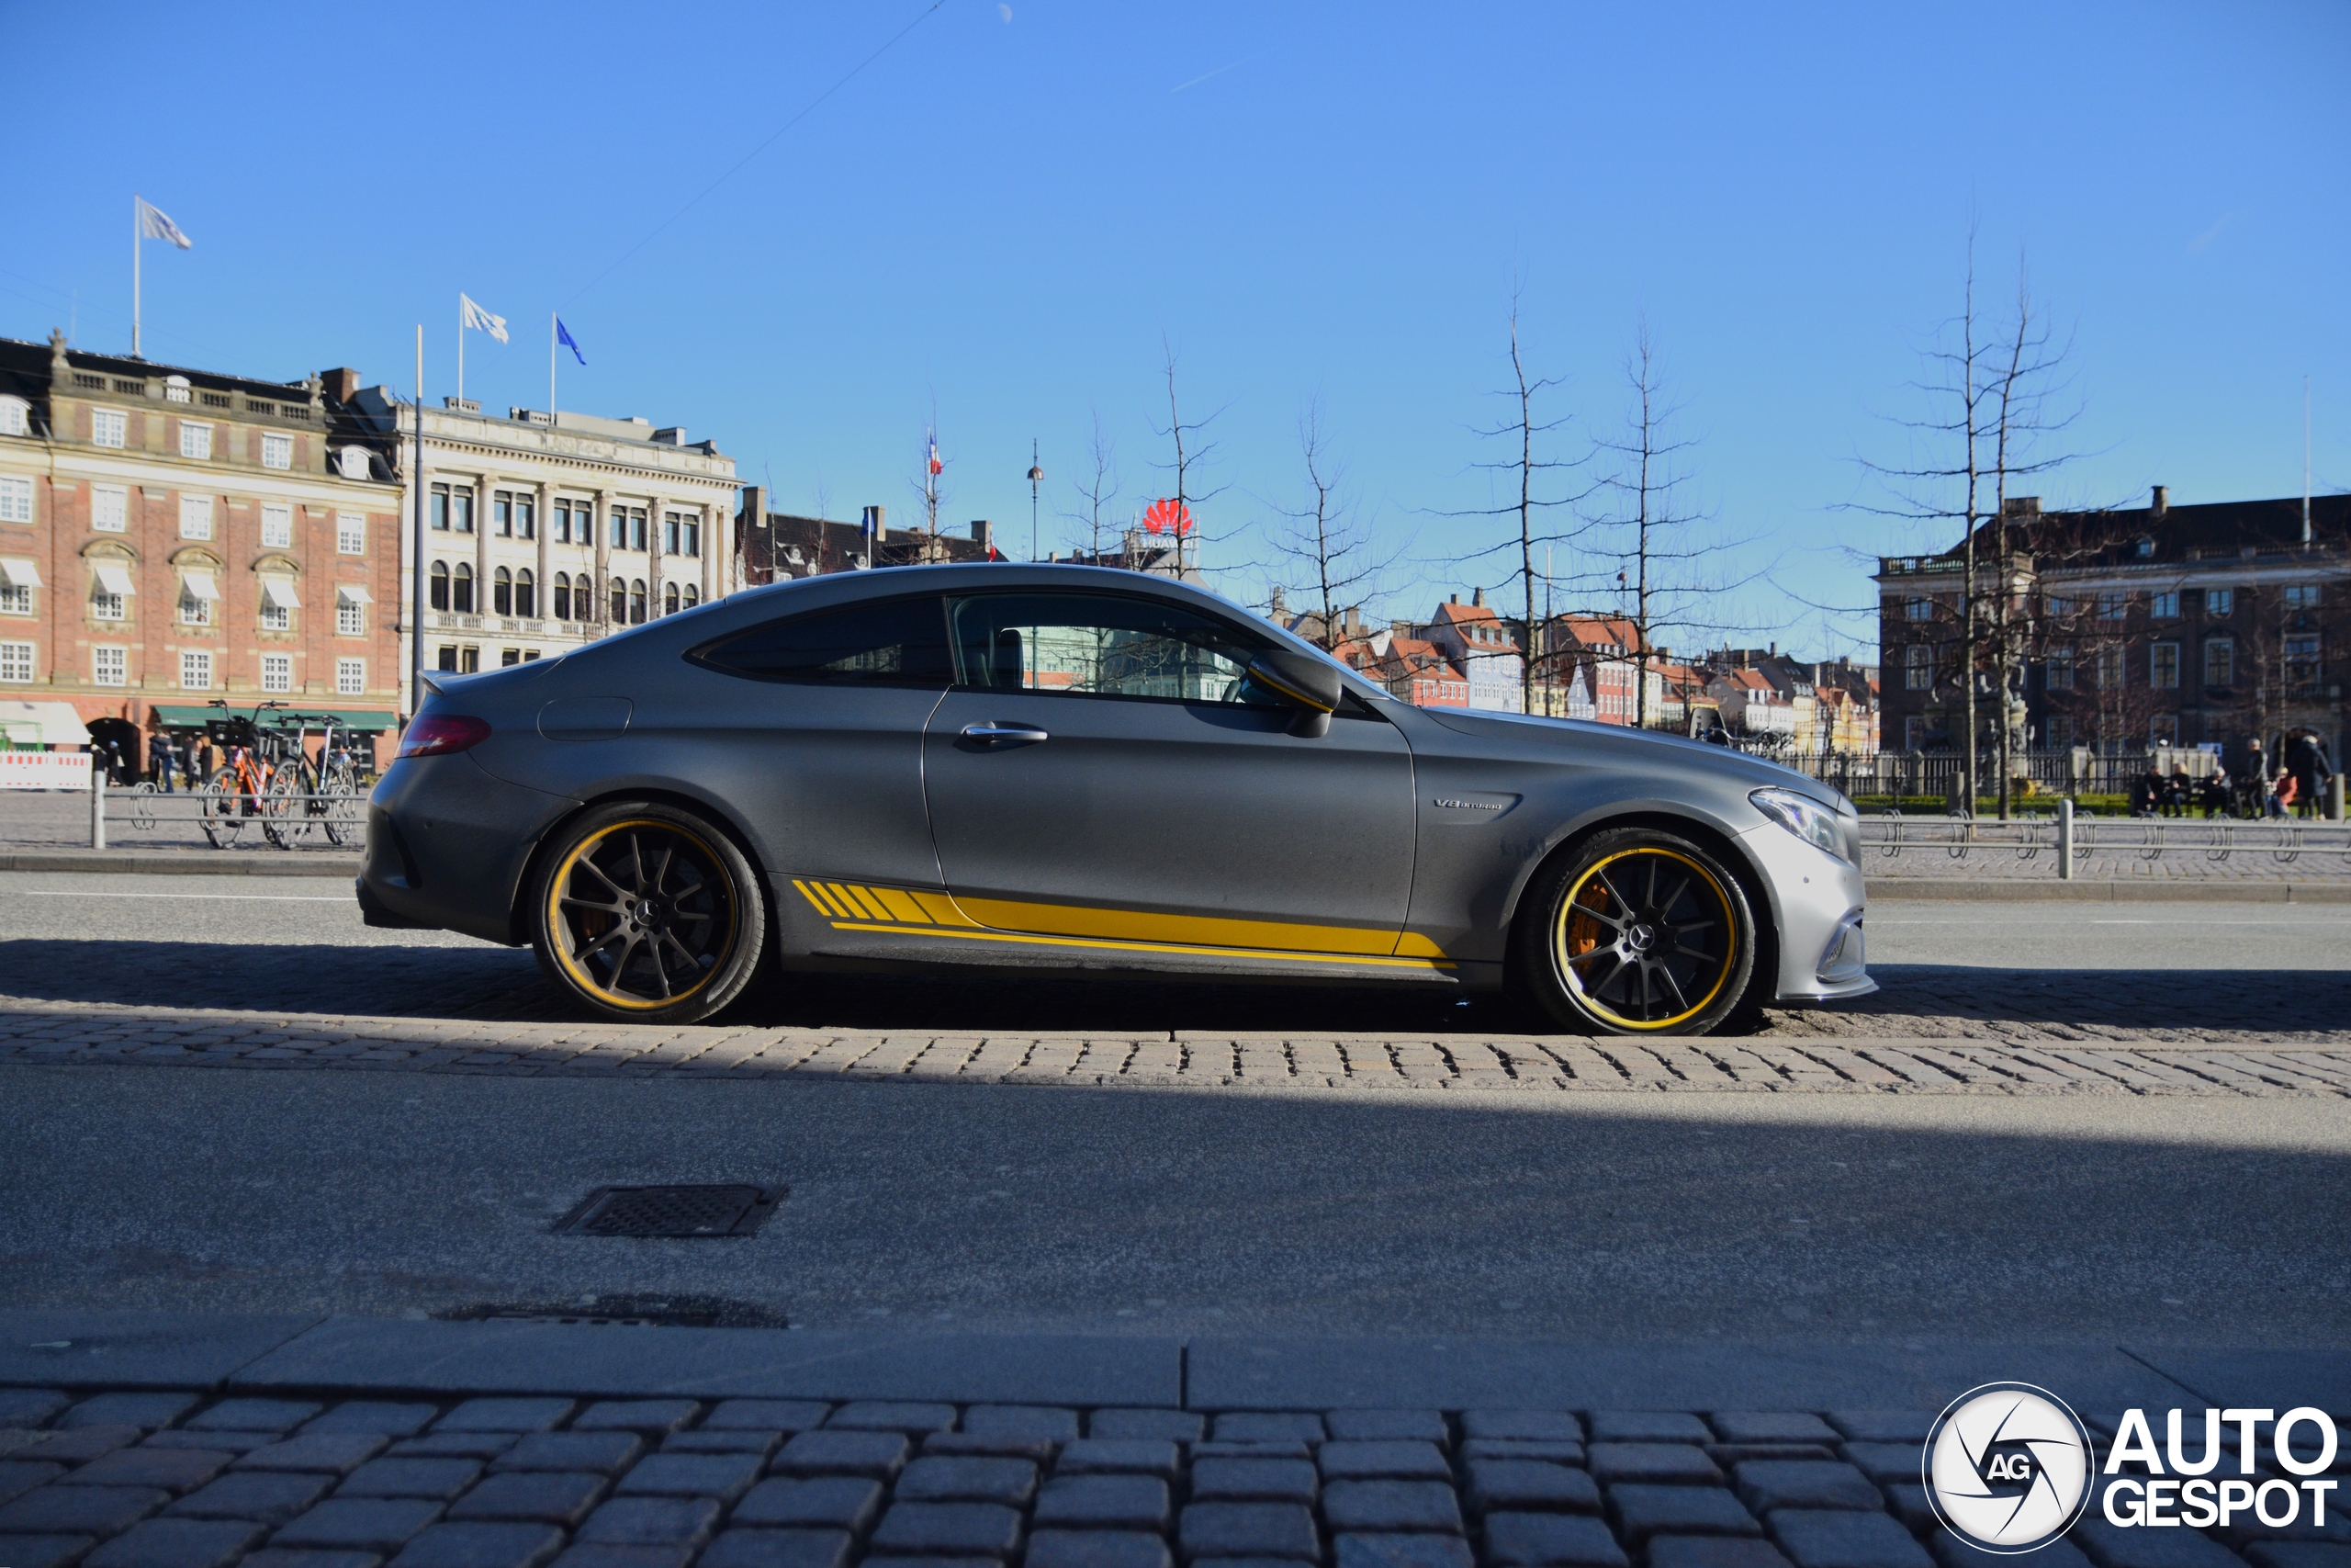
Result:
M766 947L750 860L677 806L611 802L564 823L529 898L538 966L602 1018L710 1018L743 994Z

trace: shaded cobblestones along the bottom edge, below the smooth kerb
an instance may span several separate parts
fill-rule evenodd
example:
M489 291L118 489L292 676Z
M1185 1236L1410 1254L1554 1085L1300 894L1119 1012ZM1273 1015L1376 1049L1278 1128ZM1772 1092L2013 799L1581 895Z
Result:
M623 1331L625 1333L625 1331ZM658 1331L654 1331L658 1333ZM9 1568L1958 1568L1923 1410L1168 1410L0 1389ZM2111 1432L2092 1418L2092 1427ZM2304 1429L2309 1434L2309 1429ZM2264 1434L2266 1439L2266 1434ZM2264 1441L2266 1448L2266 1441ZM2351 1469L2351 1443L2337 1469ZM2273 1479L2264 1474L2264 1479ZM2306 1521L2309 1512L2297 1514ZM2099 1509L2052 1568L2339 1568Z

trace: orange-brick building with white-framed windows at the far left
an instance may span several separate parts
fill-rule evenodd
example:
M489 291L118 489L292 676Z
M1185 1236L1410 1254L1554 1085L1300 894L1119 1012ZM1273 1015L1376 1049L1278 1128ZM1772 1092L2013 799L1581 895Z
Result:
M320 376L0 339L0 696L139 729L212 698L388 729L397 520Z

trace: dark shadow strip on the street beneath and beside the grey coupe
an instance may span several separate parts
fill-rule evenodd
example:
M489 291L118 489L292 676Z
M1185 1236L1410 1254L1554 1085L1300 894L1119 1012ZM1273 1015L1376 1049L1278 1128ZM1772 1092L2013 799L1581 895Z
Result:
M1759 1037L2128 1032L2226 1039L2351 1039L2351 971L1970 969L1883 964L1874 997L1768 1009ZM0 940L0 997L113 1006L576 1020L531 954L510 947L230 947L155 940ZM1168 985L1006 971L769 976L715 1023L933 1032L1523 1034L1505 997L1331 985Z

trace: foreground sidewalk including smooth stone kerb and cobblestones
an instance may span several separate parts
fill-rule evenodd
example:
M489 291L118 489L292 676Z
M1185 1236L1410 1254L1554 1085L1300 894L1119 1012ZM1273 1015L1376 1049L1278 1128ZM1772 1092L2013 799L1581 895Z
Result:
M7 1568L1958 1568L1987 1559L1918 1462L1968 1387L2038 1382L2102 1434L2351 1410L2344 1352L38 1309L0 1335ZM2311 1530L2165 1530L2161 1561L2320 1561L2283 1535ZM2099 1521L2074 1542L2156 1561Z

